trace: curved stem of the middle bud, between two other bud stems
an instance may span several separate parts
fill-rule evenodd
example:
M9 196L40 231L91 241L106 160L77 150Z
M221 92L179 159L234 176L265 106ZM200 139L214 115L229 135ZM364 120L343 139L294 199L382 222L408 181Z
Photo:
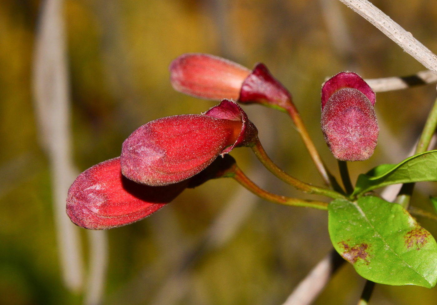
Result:
M307 184L305 182L302 182L301 180L296 179L295 177L288 175L288 173L285 173L269 158L269 156L267 156L267 153L265 152L259 140L254 146L252 146L252 150L255 153L255 156L257 156L257 158L267 168L267 170L269 170L271 173L273 173L276 177L278 177L285 183L292 185L298 190L305 193L323 195L334 199L345 198L342 194L337 193L336 191L329 190L324 187L316 187L311 184Z

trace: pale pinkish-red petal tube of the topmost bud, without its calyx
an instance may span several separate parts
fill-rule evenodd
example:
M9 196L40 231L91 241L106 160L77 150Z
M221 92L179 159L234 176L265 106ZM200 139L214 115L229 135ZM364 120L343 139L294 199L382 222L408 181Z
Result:
M187 53L170 64L170 82L184 94L210 100L238 100L250 70L218 56Z

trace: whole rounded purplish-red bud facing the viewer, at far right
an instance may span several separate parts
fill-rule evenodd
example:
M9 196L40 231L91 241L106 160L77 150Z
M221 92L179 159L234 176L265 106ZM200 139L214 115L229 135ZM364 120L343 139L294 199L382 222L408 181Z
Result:
M378 143L375 92L355 73L342 72L322 87L321 126L333 155L343 161L371 157Z

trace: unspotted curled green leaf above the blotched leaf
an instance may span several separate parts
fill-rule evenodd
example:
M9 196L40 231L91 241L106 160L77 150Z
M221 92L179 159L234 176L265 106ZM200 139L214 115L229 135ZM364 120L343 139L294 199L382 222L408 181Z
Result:
M422 152L399 164L382 164L358 176L352 195L390 184L437 180L437 150Z

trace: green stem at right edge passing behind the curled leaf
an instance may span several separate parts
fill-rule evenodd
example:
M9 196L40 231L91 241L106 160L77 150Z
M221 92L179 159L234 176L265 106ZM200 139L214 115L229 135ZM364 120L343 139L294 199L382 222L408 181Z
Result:
M426 152L428 146L430 145L431 138L437 127L437 99L434 102L433 107L431 108L430 113L428 114L427 121L425 122L425 126L423 127L422 134L420 135L419 142L416 147L416 154L421 152ZM398 196L396 197L395 202L402 205L403 208L408 209L411 196L413 195L414 183L408 183L402 185L401 191L399 191Z

